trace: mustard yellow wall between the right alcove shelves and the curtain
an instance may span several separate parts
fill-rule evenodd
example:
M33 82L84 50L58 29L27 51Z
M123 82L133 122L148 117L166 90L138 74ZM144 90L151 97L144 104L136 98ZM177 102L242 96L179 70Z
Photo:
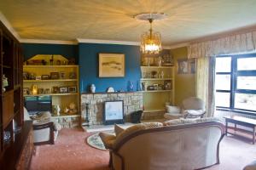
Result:
M177 59L187 59L186 47L171 49L175 63L175 105L180 105L183 99L195 96L195 74L177 74Z

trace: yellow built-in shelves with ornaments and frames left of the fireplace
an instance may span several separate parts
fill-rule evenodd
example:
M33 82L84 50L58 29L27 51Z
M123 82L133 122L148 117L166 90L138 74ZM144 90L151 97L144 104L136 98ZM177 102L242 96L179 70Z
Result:
M23 66L23 93L24 97L30 96L52 96L53 116L71 116L79 115L79 65L67 65L68 60L61 59L60 55L57 61L55 57L53 65L50 65L51 55L36 55L33 62ZM32 65L35 60L45 60L46 65ZM27 63L27 62L26 62ZM37 63L37 62L36 62ZM39 63L39 62L38 62ZM62 65L65 63L65 65ZM40 77L40 78L36 78ZM33 93L32 87L37 86L37 93ZM72 108L70 107L73 103ZM60 108L59 112L55 111L55 106ZM68 111L67 111L68 110ZM58 114L56 114L58 113Z

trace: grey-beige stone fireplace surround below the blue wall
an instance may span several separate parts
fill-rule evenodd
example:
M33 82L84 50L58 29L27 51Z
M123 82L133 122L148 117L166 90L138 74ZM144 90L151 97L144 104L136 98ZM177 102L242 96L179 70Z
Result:
M124 101L125 122L131 122L132 112L143 110L142 92L81 94L82 122L84 122L86 117L86 104L89 104L89 125L101 125L104 102L113 100Z

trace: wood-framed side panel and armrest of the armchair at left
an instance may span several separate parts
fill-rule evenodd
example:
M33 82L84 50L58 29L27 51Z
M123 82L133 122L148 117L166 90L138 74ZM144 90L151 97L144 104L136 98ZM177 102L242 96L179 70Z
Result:
M34 144L55 144L54 122L33 124Z

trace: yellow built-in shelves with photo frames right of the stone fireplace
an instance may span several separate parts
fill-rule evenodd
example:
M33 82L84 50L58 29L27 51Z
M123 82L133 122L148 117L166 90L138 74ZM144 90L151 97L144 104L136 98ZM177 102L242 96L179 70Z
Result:
M166 111L166 102L174 104L174 67L141 66L144 112Z

